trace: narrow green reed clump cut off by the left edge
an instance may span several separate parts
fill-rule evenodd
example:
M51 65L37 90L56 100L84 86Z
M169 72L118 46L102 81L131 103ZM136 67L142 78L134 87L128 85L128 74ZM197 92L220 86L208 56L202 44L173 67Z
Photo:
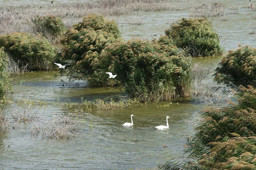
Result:
M10 73L7 70L8 55L0 48L0 103L4 103L6 94L9 90L12 91L12 83L10 80ZM1 119L1 117L0 117Z

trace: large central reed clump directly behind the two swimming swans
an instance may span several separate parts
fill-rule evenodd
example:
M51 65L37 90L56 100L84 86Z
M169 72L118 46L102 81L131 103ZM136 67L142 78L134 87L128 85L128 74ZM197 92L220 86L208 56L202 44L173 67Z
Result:
M117 74L112 83L132 99L157 102L191 95L192 59L168 37L152 42L117 39L96 62L94 77L107 81L106 71Z

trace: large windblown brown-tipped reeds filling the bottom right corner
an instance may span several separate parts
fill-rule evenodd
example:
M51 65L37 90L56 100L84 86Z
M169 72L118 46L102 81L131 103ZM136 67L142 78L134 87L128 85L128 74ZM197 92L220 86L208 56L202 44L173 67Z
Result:
M256 168L256 89L241 86L236 102L206 108L186 152L203 170Z

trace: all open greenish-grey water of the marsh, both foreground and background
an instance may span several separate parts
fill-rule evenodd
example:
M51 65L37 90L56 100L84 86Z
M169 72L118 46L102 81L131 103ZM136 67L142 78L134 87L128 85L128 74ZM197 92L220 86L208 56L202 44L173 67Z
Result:
M51 0L50 0L51 1ZM48 0L3 0L0 5L49 3ZM60 0L55 0L55 3ZM81 0L65 0L61 2L81 2ZM200 2L203 2L202 0ZM244 5L247 2L235 0L225 1L232 5ZM159 38L169 25L181 17L187 17L189 11L138 12L143 17L144 25L131 26L125 22L126 16L119 17L119 30L125 39ZM247 8L240 14L229 15L230 20L221 21L213 18L213 27L221 37L222 46L226 50L237 48L237 45L256 47L255 36L249 34L252 15ZM157 34L157 36L154 36ZM216 67L221 57L196 58L205 67ZM54 79L54 72L35 72L14 76L14 93L9 99L14 101L6 107L6 114L20 109L17 103L22 99L46 102L43 109L35 108L33 114L43 119L52 119L60 115L58 102L80 102L83 99L105 98L117 95L116 91L105 88L89 88L86 82L67 82L64 77ZM62 79L62 81L61 81ZM63 82L64 81L64 82ZM209 77L212 83L212 77ZM200 110L204 107L192 99L181 101L160 102L146 106L122 109L119 111L99 111L80 113L82 129L69 140L47 140L32 137L31 124L12 123L15 129L0 134L0 169L136 169L154 168L159 163L175 158L186 159L183 154L187 138L195 133L195 120L200 118ZM122 127L130 122L134 114L134 127ZM167 130L155 130L154 126L165 125L166 116L170 116ZM163 144L167 148L163 148Z

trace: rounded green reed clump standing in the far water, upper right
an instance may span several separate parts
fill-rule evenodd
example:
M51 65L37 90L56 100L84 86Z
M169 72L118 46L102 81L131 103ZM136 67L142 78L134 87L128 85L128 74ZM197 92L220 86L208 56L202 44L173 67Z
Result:
M209 57L223 53L218 34L206 18L182 18L173 23L165 34L178 48L185 48L192 57Z

